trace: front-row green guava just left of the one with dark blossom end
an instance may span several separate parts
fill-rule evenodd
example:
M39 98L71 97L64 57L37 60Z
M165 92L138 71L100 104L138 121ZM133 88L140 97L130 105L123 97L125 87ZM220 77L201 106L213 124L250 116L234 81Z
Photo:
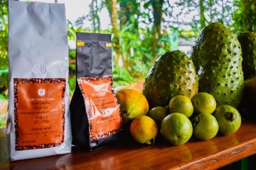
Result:
M193 134L202 140L214 138L219 130L216 118L208 113L198 114L192 119Z

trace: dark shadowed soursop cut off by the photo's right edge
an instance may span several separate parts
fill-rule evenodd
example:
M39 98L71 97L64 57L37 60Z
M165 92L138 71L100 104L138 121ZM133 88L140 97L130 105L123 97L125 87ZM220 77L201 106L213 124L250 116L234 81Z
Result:
M242 33L238 40L242 47L244 79L247 79L256 75L256 33Z

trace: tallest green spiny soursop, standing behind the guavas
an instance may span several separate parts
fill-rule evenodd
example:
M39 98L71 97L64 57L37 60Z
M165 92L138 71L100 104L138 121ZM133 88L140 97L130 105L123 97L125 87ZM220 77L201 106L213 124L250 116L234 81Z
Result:
M191 54L199 77L199 92L214 96L217 106L238 107L243 94L241 46L221 23L211 23L199 34Z

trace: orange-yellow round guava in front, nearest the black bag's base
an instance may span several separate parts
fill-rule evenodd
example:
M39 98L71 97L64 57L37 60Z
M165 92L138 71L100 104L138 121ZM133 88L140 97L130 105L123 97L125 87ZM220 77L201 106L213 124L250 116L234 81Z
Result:
M154 144L157 136L157 124L151 117L141 115L131 123L130 132L135 141Z

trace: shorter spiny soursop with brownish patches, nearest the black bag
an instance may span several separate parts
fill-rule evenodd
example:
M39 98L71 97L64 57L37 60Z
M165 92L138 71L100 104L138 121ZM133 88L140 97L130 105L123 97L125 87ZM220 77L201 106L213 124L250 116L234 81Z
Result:
M175 95L191 99L198 93L198 77L193 61L181 51L160 56L146 76L143 87L150 108L166 106Z

